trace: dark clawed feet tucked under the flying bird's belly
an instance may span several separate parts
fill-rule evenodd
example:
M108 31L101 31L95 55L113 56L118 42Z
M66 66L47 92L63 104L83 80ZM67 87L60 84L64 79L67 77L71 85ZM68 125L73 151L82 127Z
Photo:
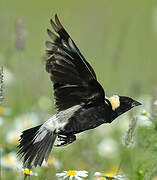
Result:
M76 136L74 134L58 135L58 140L62 142L60 144L56 144L56 147L66 146L74 142L76 140Z

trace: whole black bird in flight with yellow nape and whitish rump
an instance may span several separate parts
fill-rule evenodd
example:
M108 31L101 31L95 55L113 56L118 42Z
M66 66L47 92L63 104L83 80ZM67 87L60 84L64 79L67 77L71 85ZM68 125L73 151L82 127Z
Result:
M106 97L90 64L63 28L57 15L50 20L53 42L46 41L46 71L53 83L58 112L44 124L23 131L19 152L27 166L47 160L58 138L65 146L76 140L75 134L111 123L119 115L141 103L125 96Z

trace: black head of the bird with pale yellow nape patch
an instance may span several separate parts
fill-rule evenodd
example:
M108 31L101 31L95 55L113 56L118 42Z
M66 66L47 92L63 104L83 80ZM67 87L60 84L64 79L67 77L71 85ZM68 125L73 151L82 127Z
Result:
M112 108L112 120L129 111L133 107L141 105L140 102L126 96L114 95L107 99Z

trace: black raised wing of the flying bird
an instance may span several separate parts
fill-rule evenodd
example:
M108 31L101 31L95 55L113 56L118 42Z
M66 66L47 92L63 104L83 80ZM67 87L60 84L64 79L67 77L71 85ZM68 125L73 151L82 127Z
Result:
M90 64L61 25L57 15L50 20L54 34L47 29L53 42L46 41L46 71L54 87L55 106L64 110L77 104L98 104L104 101L104 90L96 80Z

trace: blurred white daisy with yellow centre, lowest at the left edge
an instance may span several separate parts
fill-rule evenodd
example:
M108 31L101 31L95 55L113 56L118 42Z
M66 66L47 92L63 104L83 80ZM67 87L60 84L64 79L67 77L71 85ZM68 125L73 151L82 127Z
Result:
M15 152L5 154L1 157L1 165L4 168L19 169L22 168L21 162L18 160Z

